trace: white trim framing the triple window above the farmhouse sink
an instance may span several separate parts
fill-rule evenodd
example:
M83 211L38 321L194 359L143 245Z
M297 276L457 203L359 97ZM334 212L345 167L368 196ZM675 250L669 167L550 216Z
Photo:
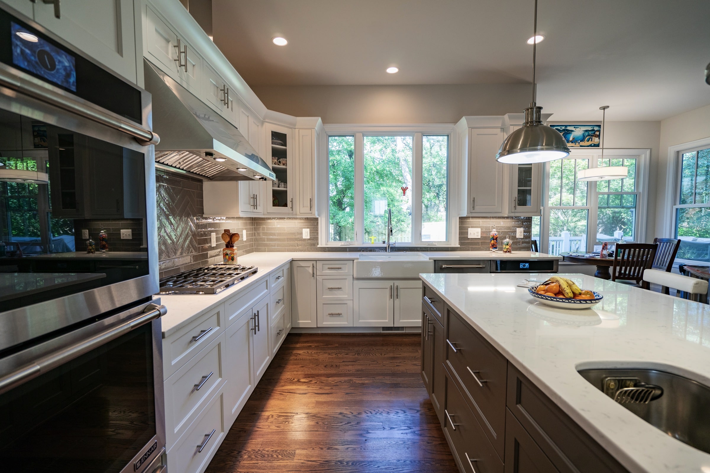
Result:
M415 189L421 189L422 185L422 135L448 135L449 137L449 164L447 167L447 241L430 242L421 240L422 224L422 196L420 192L415 192L412 199L413 218L412 233L413 241L408 244L398 243L396 247L457 247L459 246L459 215L457 208L452 206L455 200L452 198L458 195L457 179L452 176L457 175L454 167L457 166L457 140L456 128L453 124L414 124L414 125L351 125L334 124L325 125L325 133L322 133L320 152L317 154L318 169L317 174L317 194L322 196L320 208L323 209L318 217L318 246L319 247L367 247L383 248L382 243L364 243L364 169L362 162L362 150L364 145L363 136L383 135L406 135L412 136L413 140L413 161L412 161L412 182ZM328 141L330 136L353 135L355 137L355 241L354 242L332 242L329 241L329 169L328 169ZM419 138L419 139L417 139ZM456 194L454 194L456 192ZM417 233L418 232L418 233Z

